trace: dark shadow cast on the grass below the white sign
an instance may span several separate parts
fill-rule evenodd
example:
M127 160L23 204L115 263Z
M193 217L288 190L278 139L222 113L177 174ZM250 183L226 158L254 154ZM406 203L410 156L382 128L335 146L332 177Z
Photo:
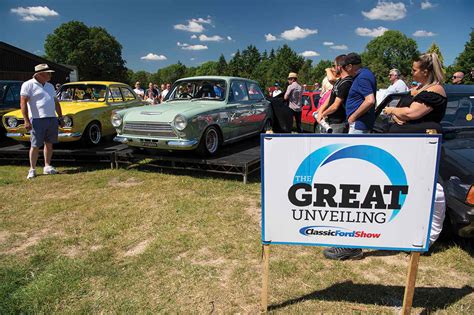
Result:
M270 305L268 310L281 309L296 303L310 300L344 301L350 303L401 307L405 288L380 284L355 284L352 281L334 284L324 290L313 291L279 304ZM474 292L471 286L458 288L416 288L413 307L424 308L425 313L445 309Z

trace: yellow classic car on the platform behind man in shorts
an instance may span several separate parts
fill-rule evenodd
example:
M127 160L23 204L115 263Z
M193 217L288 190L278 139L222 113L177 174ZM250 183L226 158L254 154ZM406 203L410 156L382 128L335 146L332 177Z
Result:
M130 86L118 82L67 83L57 97L64 119L59 142L81 141L84 145L96 145L103 137L115 135L110 122L112 111L145 105ZM7 137L23 143L30 141L20 110L5 114L2 121Z

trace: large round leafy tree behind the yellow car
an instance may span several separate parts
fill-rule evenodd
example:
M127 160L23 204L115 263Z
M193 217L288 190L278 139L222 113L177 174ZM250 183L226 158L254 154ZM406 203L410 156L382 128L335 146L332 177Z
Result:
M127 82L122 45L102 27L63 23L46 37L44 48L52 61L77 66L80 80Z

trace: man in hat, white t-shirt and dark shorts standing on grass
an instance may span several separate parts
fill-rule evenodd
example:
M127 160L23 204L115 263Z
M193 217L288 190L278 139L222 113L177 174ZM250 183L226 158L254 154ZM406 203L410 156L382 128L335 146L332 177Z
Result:
M36 176L36 162L38 161L39 148L44 145L43 174L56 174L51 166L53 156L53 143L58 142L58 121L64 126L61 107L56 98L51 80L52 70L47 64L35 67L33 78L24 82L20 92L20 107L25 129L31 134L30 170L27 179ZM56 117L56 113L58 117Z

